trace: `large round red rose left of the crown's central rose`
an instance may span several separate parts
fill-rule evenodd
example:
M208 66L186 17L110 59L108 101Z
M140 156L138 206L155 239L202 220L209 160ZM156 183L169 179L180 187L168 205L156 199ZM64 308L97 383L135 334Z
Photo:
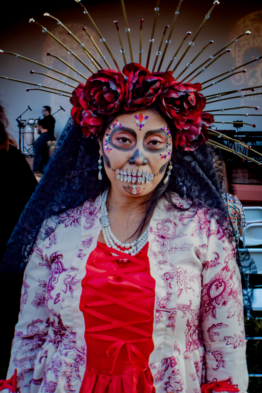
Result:
M109 115L120 109L125 87L125 78L120 72L99 70L86 82L83 99L89 109Z

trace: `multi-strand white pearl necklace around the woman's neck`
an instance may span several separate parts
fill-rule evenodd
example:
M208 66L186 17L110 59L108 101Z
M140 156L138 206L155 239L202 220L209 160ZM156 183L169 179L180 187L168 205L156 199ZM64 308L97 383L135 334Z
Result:
M126 248L126 250L124 251L125 254L130 254L130 255L136 255L138 254L142 248L145 246L145 244L147 244L148 242L148 228L149 225L147 226L146 230L144 233L142 233L141 236L139 236L137 238L137 240L135 240L134 242L131 243L122 243L120 240L118 240L114 233L111 231L110 228L110 223L108 220L108 212L106 209L106 200L107 200L107 196L108 196L108 191L109 188L107 188L102 196L101 196L101 213L102 213L102 217L100 219L101 225L102 225L102 233L104 236L104 241L106 242L106 245L108 247L112 247L117 251L121 251L119 247L117 246L121 246L122 248Z

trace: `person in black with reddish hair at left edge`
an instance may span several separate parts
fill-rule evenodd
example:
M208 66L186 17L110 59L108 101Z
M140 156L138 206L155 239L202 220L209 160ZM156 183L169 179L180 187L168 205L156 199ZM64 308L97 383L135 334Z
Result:
M5 245L37 186L37 180L25 156L17 149L17 143L7 132L7 127L8 120L0 102L0 206L2 206L0 261L5 252ZM11 276L0 272L0 334L1 337L5 337L1 343L2 359L8 359L10 356L15 324L20 309L22 277L22 275ZM2 362L0 380L5 378L7 368L8 364Z

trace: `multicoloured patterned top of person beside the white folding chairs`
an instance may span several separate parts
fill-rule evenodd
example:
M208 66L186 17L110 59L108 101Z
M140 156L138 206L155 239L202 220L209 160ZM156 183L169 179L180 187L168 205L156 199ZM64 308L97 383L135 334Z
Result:
M227 208L236 233L236 241L239 242L243 229L247 226L244 208L240 200L229 193L227 193Z

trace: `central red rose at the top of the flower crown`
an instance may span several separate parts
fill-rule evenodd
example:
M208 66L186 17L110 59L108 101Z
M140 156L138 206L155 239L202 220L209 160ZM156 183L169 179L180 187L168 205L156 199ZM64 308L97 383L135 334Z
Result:
M143 109L152 104L161 92L163 78L150 73L140 64L131 63L123 68L126 81L125 110Z

